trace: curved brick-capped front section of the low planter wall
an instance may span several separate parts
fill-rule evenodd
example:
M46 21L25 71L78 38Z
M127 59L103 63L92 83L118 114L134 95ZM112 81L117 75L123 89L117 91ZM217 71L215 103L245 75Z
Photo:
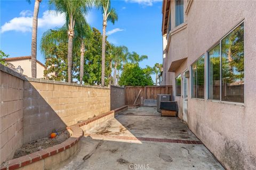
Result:
M83 130L78 126L70 126L71 137L53 147L34 152L32 154L9 160L7 167L1 170L11 169L57 169L61 163L74 156L80 148L80 139Z

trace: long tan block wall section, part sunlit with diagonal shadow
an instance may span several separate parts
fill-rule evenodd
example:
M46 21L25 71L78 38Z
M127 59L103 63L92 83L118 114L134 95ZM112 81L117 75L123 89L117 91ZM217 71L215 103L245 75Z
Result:
M24 82L24 143L110 111L110 89L28 78Z

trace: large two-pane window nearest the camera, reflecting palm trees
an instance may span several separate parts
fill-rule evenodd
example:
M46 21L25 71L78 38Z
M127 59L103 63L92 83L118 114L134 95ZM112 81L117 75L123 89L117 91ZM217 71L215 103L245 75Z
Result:
M208 99L244 103L244 23L208 51Z

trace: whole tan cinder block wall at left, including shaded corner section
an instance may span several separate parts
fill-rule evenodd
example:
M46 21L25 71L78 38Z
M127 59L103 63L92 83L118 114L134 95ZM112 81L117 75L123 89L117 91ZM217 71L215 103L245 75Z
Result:
M23 143L110 111L110 89L25 78L0 64L0 163Z

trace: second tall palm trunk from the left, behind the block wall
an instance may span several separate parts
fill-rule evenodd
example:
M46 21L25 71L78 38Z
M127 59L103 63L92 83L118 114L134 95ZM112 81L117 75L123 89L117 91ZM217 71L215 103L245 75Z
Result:
M75 20L71 15L68 29L68 82L72 82L72 54L73 54L73 37L74 37Z

